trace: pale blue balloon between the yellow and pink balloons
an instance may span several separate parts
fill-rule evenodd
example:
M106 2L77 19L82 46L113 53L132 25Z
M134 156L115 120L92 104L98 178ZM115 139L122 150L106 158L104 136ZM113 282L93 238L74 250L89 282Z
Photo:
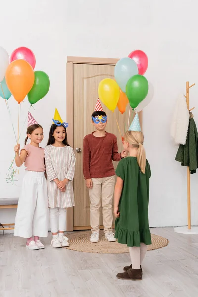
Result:
M128 80L136 74L138 74L138 66L134 60L130 58L122 58L115 65L115 80L124 93L126 93L126 85Z

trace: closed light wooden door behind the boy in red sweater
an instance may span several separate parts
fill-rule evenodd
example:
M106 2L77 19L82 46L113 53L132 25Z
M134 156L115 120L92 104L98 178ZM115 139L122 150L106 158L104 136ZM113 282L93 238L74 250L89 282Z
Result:
M88 189L83 177L83 138L93 130L91 114L98 99L98 85L104 78L114 78L113 65L73 64L73 144L76 154L76 170L74 178L74 230L90 228L90 200ZM121 151L122 141L116 124L119 123L122 133L128 122L128 112L123 115L117 110L112 113L103 104L103 109L108 115L106 130L114 133L118 140L118 149ZM116 168L117 163L114 162ZM102 212L101 212L101 226Z

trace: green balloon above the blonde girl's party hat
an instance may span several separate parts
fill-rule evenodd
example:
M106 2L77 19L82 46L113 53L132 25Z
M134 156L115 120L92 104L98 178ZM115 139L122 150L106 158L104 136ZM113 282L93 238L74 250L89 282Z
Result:
M148 94L148 81L139 74L132 76L126 85L126 95L131 108L136 108Z

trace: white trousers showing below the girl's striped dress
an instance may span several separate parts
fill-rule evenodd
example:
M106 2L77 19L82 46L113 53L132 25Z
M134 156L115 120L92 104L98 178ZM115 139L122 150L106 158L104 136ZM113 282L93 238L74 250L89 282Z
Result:
M59 231L65 231L67 219L66 208L49 208L49 221L51 226L51 232L57 233Z

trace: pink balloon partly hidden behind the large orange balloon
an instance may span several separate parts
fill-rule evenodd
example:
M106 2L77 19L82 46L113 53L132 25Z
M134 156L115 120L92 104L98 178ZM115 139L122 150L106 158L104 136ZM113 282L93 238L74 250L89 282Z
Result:
M10 63L15 60L25 60L32 66L33 69L36 65L36 59L35 59L34 53L32 52L31 49L28 49L26 47L17 48L12 52Z

